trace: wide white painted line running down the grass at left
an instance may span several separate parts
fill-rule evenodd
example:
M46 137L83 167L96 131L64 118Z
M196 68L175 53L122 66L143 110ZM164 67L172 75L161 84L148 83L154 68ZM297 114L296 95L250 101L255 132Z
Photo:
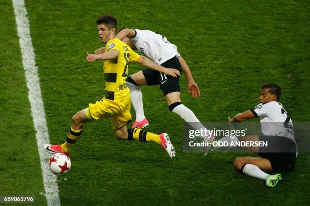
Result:
M28 87L28 98L31 105L31 115L35 129L37 148L40 155L45 195L48 205L60 205L56 176L49 170L50 155L43 148L49 144L49 133L45 118L43 100L41 97L40 80L35 66L35 55L29 30L29 21L24 0L12 0L16 17L17 31L19 36L20 49L25 70Z

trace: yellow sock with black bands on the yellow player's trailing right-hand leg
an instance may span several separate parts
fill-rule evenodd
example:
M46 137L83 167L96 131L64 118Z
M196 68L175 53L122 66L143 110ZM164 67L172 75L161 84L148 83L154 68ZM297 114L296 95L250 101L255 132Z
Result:
M153 141L158 144L161 143L160 135L153 134L151 132L144 131L142 129L128 129L127 130L127 139L128 140L137 140L137 141Z

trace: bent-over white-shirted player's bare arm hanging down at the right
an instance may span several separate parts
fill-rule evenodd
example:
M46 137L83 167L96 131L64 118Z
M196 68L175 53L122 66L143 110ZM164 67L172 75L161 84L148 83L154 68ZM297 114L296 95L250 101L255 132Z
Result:
M198 98L200 97L200 90L196 82L193 80L191 76L191 72L189 70L188 65L186 64L185 60L183 57L179 57L179 62L182 67L182 71L188 81L188 86L187 86L187 91L189 94L191 94L192 97Z

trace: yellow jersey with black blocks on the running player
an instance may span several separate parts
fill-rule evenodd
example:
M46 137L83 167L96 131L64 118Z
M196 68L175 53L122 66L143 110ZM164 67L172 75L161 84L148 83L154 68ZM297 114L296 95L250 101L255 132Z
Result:
M122 100L130 97L130 91L126 85L128 63L138 61L140 56L118 38L111 39L106 43L105 52L111 49L117 49L120 55L118 59L104 60L104 98Z

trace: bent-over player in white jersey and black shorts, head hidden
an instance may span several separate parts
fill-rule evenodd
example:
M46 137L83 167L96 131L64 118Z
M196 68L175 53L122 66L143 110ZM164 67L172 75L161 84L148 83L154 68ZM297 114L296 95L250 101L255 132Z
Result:
M180 72L183 71L188 80L188 92L193 97L200 95L199 88L193 80L185 60L177 51L177 46L170 43L165 36L149 30L123 29L116 37L129 43L140 54L145 55L155 63L167 68L177 69ZM136 111L136 121L133 123L133 127L141 128L148 126L144 116L142 93L139 86L158 84L166 97L171 112L178 114L185 122L196 122L198 124L195 124L195 126L203 127L199 124L195 114L181 103L179 77L166 76L151 69L139 71L127 79L132 104Z

